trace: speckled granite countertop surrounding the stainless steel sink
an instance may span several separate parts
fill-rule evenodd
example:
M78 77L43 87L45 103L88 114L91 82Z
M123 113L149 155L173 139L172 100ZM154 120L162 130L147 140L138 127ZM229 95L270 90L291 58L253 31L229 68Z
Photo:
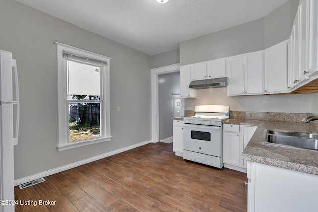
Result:
M260 143L263 132L268 128L318 133L317 125L313 123L247 119L228 119L223 123L258 126L243 151L242 158L244 160L318 175L318 151L275 147Z

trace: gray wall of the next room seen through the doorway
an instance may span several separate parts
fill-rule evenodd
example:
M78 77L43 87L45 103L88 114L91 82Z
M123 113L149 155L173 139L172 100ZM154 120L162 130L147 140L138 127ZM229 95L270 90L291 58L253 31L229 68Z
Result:
M158 76L159 141L173 136L172 93L180 94L180 73Z

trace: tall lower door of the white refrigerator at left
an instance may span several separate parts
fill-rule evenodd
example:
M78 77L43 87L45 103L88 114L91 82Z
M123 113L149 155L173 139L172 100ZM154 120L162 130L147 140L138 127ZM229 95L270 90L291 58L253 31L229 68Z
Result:
M13 104L0 105L0 200L14 200ZM13 212L14 205L0 205L0 212Z

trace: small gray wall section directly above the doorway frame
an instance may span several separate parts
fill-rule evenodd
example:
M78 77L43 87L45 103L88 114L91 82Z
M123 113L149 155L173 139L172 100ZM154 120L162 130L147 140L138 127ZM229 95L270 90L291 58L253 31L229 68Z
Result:
M151 68L180 63L180 49L151 56Z

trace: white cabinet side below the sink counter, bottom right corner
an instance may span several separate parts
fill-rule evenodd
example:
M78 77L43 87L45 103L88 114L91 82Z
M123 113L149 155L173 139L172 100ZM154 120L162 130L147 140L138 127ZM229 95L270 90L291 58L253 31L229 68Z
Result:
M248 163L247 212L317 212L317 175Z

